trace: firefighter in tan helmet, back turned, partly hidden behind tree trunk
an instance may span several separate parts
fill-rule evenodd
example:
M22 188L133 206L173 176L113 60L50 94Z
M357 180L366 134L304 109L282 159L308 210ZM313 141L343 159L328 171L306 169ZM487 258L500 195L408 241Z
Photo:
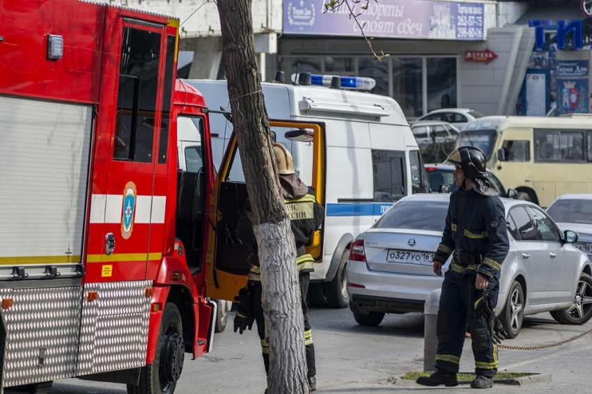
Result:
M286 212L290 219L290 226L294 234L296 244L296 265L298 270L300 301L302 303L302 315L304 315L304 345L306 345L306 366L307 378L311 391L316 390L316 366L315 366L315 347L311 324L306 315L308 306L306 306L306 294L309 290L311 272L314 271L314 258L304 249L305 245L311 244L315 230L320 228L322 219L325 217L325 208L316 202L314 191L307 187L296 172L290 152L281 144L273 145L274 158L276 159L279 173L279 183L281 194L286 203ZM263 316L263 306L261 304L261 279L260 267L257 253L257 242L253 233L253 223L251 214L251 203L249 198L244 203L242 217L237 223L237 235L247 247L249 255L249 284L247 289L241 289L239 294L240 306L234 320L234 331L244 331L248 326L251 329L253 320L257 322L257 332L261 340L263 351L263 363L265 372L270 372L270 348L265 340L265 319ZM252 313L252 315L251 315ZM266 391L267 392L267 391Z

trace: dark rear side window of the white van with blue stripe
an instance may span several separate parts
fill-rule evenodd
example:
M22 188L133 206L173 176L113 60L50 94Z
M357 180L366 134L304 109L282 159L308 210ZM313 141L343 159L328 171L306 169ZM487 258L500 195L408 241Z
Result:
M374 202L396 201L405 196L405 152L372 150Z

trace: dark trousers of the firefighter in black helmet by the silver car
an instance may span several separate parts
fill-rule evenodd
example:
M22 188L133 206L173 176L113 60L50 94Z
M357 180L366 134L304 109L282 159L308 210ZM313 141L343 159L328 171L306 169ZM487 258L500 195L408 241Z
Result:
M475 357L475 373L493 377L497 373L497 345L489 336L485 319L476 318L475 279L474 273L459 277L447 271L444 276L436 326L438 347L435 367L444 372L458 372L468 326ZM497 304L498 278L489 281L487 292Z

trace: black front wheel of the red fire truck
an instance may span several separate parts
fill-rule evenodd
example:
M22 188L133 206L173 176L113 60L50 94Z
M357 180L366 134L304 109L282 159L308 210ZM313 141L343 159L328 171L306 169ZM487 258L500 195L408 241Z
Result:
M154 362L140 372L140 383L128 384L128 394L173 394L185 360L185 342L179 309L167 302L162 313Z

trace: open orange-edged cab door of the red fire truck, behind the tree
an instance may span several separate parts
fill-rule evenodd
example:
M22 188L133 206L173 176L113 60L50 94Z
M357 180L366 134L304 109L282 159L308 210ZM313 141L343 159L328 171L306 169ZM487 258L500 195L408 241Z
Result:
M306 157L311 174L300 173L303 180L310 179L316 191L318 203L325 206L325 125L323 123L270 120L270 127L277 135L286 136L293 144L300 144L299 151ZM306 171L306 170L304 170ZM235 135L228 141L224 159L220 164L210 202L210 231L208 232L208 297L233 301L241 287L247 284L250 266L247 250L237 239L235 230L247 199L247 187L242 174L240 152ZM313 242L306 250L315 260L322 259L323 230L317 230Z

